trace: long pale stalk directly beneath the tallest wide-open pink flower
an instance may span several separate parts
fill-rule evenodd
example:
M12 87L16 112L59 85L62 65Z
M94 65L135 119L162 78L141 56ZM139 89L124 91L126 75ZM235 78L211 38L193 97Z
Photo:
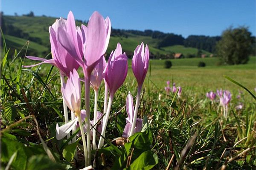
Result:
M90 146L90 74L87 74L87 78L84 79L84 93L85 93L85 110L86 110L86 135L87 135L87 156L88 163L90 165L91 146Z

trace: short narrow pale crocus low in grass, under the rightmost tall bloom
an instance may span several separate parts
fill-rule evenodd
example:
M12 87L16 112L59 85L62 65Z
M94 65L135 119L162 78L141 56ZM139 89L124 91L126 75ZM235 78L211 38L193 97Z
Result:
M128 114L128 117L126 118L126 125L125 125L125 129L123 131L122 136L124 137L128 137L131 131L131 125L132 125L132 121L134 119L134 105L133 105L133 98L129 92L129 94L126 97L126 112ZM136 132L140 132L142 130L142 123L143 120L136 118L136 123L135 123L135 127L134 127L134 133Z

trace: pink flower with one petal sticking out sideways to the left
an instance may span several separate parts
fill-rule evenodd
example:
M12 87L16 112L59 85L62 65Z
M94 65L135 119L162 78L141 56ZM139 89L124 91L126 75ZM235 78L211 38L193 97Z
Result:
M52 26L49 27L52 59L26 56L29 59L43 62L35 65L26 65L23 67L33 67L36 65L49 63L56 66L61 71L61 74L64 74L67 77L69 77L70 72L72 72L74 68L76 70L79 68L79 63L76 62L75 58L73 58L73 56L71 56L65 48L63 48L63 46L60 44L60 41L57 39L59 29L65 30L63 34L73 35L73 39L70 40L70 43L73 44L74 48L78 51L78 54L81 55L82 44L79 44L79 42L82 41L83 37L80 28L76 28L73 13L70 11L67 16L67 20L60 18L59 20L56 20Z

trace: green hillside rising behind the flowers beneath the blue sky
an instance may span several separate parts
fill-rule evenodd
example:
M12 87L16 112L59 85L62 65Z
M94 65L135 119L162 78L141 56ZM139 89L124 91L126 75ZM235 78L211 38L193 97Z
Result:
M53 17L3 16L3 25L7 27L5 28L6 34L9 34L5 34L7 47L20 50L26 41L29 40L29 55L45 55L49 53L48 28L55 20L56 18ZM77 21L76 24L78 26L81 25L81 21ZM9 30L12 28L14 31L10 32L8 28ZM121 34L116 34L118 31L121 32ZM122 44L123 51L125 51L129 57L132 56L134 49L141 42L148 44L151 56L154 58L170 57L173 53L183 53L185 56L188 54L196 55L198 53L197 48L184 47L183 45L157 48L157 45L162 39L152 38L153 36L139 35L137 32L140 31L120 31L113 29L112 32L113 34L111 34L107 54L110 54L111 51L115 49L117 42ZM210 54L203 50L202 53Z

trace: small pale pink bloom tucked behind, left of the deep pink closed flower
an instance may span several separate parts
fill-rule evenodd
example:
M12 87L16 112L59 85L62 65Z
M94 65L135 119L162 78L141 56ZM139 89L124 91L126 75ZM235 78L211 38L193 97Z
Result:
M94 90L98 90L99 86L101 85L102 79L105 76L104 69L107 65L107 62L105 60L105 57L102 57L101 60L99 60L99 63L94 68L91 78L90 78L90 84L93 87Z

